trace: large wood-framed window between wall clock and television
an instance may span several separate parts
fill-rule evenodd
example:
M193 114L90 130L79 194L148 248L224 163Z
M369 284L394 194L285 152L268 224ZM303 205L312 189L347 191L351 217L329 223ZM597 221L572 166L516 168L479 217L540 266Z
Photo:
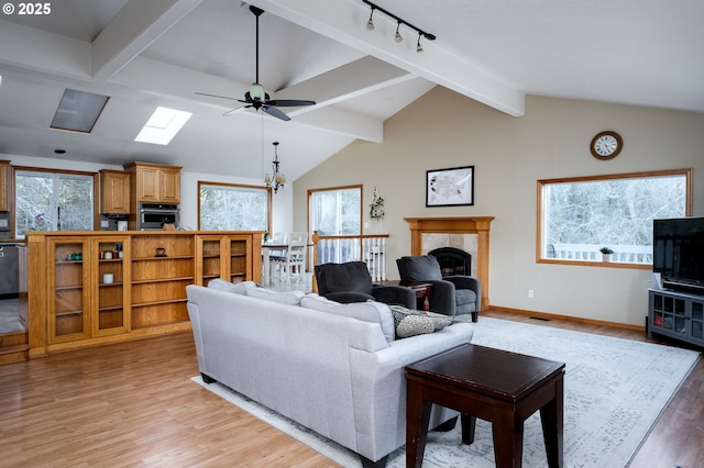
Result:
M652 220L691 209L691 169L538 181L538 260L652 264Z

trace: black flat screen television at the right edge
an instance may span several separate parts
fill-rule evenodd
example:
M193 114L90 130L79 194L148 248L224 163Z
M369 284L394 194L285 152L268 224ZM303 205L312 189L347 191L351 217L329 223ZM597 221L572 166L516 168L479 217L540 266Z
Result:
M704 218L653 220L652 270L669 289L704 293Z

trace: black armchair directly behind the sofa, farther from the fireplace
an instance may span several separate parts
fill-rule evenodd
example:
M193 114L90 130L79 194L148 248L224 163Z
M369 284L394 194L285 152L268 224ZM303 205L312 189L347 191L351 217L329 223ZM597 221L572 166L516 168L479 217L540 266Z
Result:
M337 302L365 302L370 299L386 304L416 308L416 293L400 286L372 285L364 261L315 266L318 293Z

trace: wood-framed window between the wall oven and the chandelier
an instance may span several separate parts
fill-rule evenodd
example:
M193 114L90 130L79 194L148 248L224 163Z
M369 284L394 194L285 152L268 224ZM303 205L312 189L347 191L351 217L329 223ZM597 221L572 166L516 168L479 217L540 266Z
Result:
M268 187L198 182L198 229L204 231L268 231Z

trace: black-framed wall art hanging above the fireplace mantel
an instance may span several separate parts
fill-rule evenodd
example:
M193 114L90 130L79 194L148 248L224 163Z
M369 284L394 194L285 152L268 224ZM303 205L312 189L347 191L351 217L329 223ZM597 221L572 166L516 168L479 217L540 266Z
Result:
M474 204L474 166L426 171L426 207Z

